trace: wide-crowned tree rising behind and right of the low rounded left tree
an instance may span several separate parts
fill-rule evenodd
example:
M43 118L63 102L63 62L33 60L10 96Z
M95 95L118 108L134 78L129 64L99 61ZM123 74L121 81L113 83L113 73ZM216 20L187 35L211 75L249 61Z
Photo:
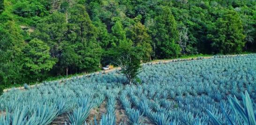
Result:
M47 43L50 46L51 56L60 58L61 43L67 40L67 37L75 36L74 33L69 33L65 15L54 12L38 23L37 29L31 34L31 37ZM73 39L71 38L70 41Z

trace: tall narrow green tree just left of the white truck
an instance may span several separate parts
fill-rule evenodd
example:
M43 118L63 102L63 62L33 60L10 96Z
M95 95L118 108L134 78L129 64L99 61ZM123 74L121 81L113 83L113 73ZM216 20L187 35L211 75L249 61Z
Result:
M80 56L78 71L95 71L98 69L102 49L100 43L97 42L98 31L92 24L88 13L83 5L76 5L70 10L70 23L71 32L75 33L72 37Z

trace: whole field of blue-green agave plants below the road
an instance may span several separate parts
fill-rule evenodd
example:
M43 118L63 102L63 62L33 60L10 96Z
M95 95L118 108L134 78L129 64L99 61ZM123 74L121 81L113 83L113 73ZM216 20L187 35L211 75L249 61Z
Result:
M123 85L115 71L13 89L0 96L0 125L212 125L207 110L228 124L223 109L236 123L228 96L242 102L245 91L256 113L256 54L148 63L139 78Z

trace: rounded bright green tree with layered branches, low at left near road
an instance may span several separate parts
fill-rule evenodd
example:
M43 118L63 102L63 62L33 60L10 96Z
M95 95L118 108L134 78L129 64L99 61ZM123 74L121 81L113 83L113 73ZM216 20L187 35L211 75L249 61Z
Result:
M50 56L50 47L43 41L32 39L23 49L24 69L29 71L27 76L32 79L42 78L55 65L55 61Z

